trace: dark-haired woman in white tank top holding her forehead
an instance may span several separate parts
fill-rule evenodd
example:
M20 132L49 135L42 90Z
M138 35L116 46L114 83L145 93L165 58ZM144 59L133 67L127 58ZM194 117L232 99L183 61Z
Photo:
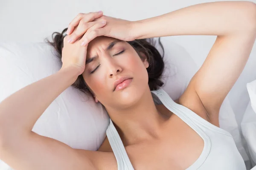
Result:
M63 49L61 37L53 42L62 52L61 69L0 103L0 159L15 170L245 170L232 136L219 128L218 113L253 47L255 3L202 3L134 22L79 14L67 34ZM159 88L161 69L151 79L155 87L149 83L157 52L138 39L188 34L217 39L174 102ZM80 88L111 118L98 151L31 131L59 94L78 87L79 76L86 82Z

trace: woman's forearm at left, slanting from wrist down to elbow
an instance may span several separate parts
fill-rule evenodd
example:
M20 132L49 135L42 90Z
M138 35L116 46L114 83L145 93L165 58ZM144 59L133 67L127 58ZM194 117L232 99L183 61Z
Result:
M52 101L75 82L76 74L74 68L60 70L4 99L0 103L0 135L31 132Z

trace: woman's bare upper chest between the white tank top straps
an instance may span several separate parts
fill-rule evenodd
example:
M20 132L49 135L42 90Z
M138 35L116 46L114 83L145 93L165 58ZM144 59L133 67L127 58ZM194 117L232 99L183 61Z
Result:
M176 115L170 119L163 139L125 148L135 170L184 170L199 158L204 140Z

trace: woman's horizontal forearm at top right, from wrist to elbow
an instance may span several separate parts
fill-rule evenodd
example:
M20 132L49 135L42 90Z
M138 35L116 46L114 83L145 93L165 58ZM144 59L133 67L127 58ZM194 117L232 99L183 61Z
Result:
M227 35L255 28L256 5L248 1L201 3L134 23L137 39L174 35ZM254 25L253 25L254 24Z

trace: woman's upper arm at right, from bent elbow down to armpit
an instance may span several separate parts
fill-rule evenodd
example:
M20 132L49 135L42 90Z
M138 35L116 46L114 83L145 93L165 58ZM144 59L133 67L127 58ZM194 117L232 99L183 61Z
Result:
M214 113L211 119L218 121L221 104L243 71L255 38L255 29L218 36L203 65L189 82L206 111Z

